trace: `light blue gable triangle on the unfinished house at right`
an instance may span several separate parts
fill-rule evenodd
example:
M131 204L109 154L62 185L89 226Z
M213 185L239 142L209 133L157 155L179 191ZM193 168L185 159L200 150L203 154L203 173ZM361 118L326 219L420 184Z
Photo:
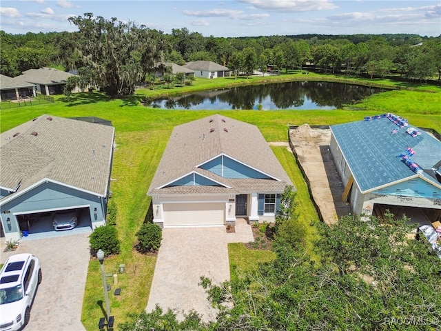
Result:
M373 191L379 195L400 195L406 197L441 199L441 190L420 178L410 179L403 183Z

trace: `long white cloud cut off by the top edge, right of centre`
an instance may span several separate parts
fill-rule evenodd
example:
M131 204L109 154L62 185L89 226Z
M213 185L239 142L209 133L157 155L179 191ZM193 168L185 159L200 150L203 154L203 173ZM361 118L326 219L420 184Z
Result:
M270 12L311 12L338 8L329 0L236 0Z

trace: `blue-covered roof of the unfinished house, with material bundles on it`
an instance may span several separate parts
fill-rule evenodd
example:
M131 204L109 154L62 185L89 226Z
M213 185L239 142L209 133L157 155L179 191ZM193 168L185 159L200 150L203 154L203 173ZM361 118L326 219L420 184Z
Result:
M331 126L362 192L416 174L402 157L398 157L407 148L415 152L410 157L411 161L418 163L423 170L433 172L431 168L440 162L440 141L410 123L402 128L398 124L402 123L393 123L388 117L381 117ZM407 132L409 128L414 128L419 135L412 137ZM429 172L422 172L422 176L438 183Z

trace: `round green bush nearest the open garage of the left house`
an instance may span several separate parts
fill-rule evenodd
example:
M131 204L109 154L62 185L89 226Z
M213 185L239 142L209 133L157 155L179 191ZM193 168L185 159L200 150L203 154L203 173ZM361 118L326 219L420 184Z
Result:
M118 233L114 226L100 226L90 234L89 238L92 255L96 255L96 252L100 249L103 250L105 255L118 254L120 252Z

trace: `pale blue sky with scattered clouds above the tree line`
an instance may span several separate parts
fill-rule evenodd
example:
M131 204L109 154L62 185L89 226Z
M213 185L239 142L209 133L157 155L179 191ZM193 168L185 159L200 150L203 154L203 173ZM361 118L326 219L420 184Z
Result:
M70 16L105 19L161 30L187 28L204 37L292 34L413 33L441 35L441 1L424 0L1 0L0 30L74 32Z

